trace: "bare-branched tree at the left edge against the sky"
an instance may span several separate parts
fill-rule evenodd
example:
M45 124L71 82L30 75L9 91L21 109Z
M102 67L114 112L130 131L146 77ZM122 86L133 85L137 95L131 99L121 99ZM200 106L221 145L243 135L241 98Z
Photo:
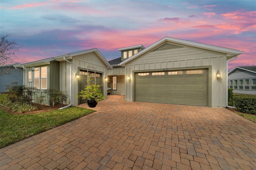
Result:
M1 33L0 36L0 76L10 73L12 65L19 61L25 61L18 55L21 45L14 40L8 40L10 34ZM5 67L2 67L5 65Z

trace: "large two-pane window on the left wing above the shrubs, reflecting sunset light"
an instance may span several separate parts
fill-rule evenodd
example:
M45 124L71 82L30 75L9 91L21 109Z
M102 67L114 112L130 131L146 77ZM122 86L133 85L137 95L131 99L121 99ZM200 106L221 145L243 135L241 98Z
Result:
M34 69L34 87L47 89L47 66Z

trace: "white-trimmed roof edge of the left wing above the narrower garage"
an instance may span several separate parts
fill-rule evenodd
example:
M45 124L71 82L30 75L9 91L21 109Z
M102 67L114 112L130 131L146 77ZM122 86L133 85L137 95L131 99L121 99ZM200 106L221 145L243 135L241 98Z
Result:
M88 49L88 50L84 50L84 51L78 51L78 52L74 52L74 53L68 53L68 54L64 54L64 55L58 55L56 57L50 57L50 58L46 58L46 59L41 59L38 61L32 61L29 63L23 63L23 64L15 64L14 67L22 67L22 66L27 66L27 67L35 67L35 66L40 66L40 65L44 65L44 64L49 64L50 61L64 61L64 57L66 57L67 59L72 59L72 57L76 56L76 55L81 55L81 54L86 54L86 53L91 53L94 52L96 53L96 55L103 61L103 63L108 67L108 69L113 68L108 61L105 59L105 57L103 57L103 55L100 53L100 51L97 48L93 48L93 49Z

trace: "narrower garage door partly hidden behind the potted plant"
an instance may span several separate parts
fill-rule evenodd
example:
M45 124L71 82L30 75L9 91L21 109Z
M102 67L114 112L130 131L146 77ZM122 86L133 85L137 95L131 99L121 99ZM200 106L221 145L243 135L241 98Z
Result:
M94 75L94 72L89 71ZM80 77L79 77L79 89L78 91L84 90L84 86L87 85L87 71L80 70ZM102 74L96 73L96 85L102 85ZM102 86L101 86L102 88ZM102 89L101 89L102 90ZM87 99L78 99L79 104L87 103Z

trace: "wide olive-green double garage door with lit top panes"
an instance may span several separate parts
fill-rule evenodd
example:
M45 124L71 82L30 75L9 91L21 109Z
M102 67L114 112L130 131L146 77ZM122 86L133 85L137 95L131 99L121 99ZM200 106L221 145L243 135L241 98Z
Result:
M208 69L135 73L135 101L207 106Z

